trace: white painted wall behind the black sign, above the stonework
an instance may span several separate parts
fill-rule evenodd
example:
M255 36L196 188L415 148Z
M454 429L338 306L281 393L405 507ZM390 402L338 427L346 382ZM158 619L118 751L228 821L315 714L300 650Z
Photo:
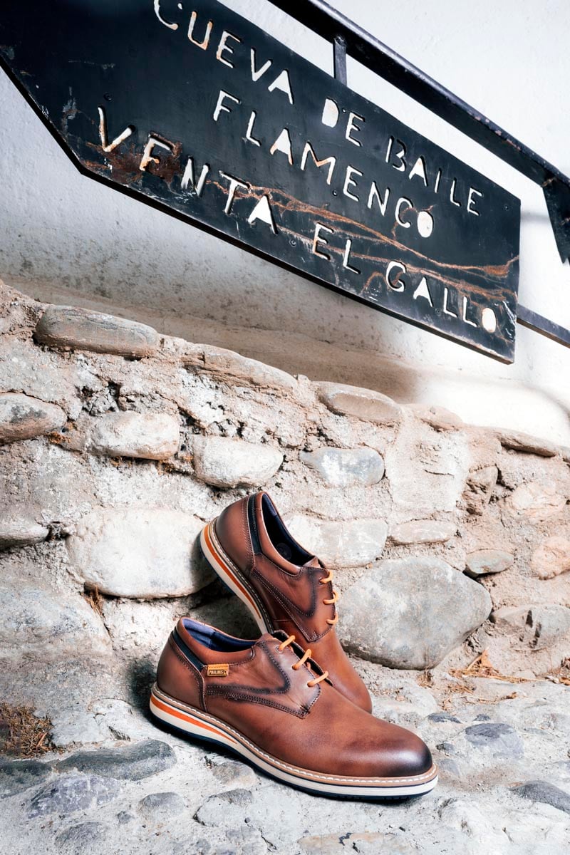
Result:
M570 174L567 0L332 2ZM226 5L332 69L330 47L266 0ZM351 61L349 85L520 197L520 302L570 327L570 270L540 188ZM1 73L0 151L0 276L21 290L570 445L570 350L561 345L518 326L515 363L504 366L100 186L79 175Z

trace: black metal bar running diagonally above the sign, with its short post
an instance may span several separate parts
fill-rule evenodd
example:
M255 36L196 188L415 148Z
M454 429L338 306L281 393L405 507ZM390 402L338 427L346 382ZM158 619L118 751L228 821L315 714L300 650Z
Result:
M341 15L325 0L297 0L297 3L270 0L270 3L332 42L335 77L339 80L342 78L337 73L336 45L343 39L346 53L362 65L542 186L561 260L570 260L570 179L559 169Z

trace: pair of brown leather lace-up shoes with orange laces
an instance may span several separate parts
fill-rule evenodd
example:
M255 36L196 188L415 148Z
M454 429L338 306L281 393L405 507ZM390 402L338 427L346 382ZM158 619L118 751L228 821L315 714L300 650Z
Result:
M335 632L331 571L291 537L267 492L229 505L201 545L261 638L181 618L158 663L152 713L311 793L387 799L435 787L422 740L370 714Z

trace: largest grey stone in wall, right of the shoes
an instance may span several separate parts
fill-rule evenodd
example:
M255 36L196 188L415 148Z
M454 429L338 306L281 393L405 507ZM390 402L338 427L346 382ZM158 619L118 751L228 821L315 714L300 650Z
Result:
M390 668L426 669L491 611L485 588L439 558L384 561L344 592L344 646Z

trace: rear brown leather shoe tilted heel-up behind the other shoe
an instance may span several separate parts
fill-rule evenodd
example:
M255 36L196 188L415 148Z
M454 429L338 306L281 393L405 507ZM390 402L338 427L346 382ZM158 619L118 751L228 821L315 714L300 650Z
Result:
M203 553L250 609L262 633L283 629L326 662L332 685L372 711L367 687L340 646L331 571L293 540L267 492L228 505L202 532Z

